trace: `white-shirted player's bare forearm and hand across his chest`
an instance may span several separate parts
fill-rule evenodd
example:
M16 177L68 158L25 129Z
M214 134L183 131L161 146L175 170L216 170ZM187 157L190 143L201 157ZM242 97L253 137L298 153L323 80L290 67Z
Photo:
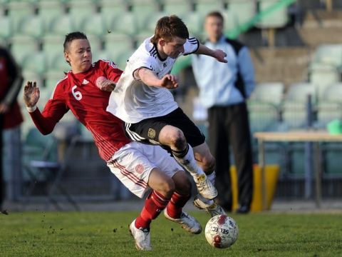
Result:
M166 89L176 89L178 87L177 78L167 74L159 79L150 69L140 68L135 71L135 79L140 79L147 86L159 86Z

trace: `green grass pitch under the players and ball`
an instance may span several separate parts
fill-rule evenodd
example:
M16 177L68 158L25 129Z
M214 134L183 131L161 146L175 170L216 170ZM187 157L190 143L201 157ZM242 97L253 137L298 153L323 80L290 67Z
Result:
M163 216L152 223L152 252L135 250L128 224L138 212L0 214L0 256L342 256L340 214L234 215L239 238L209 246ZM209 216L192 213L202 226Z

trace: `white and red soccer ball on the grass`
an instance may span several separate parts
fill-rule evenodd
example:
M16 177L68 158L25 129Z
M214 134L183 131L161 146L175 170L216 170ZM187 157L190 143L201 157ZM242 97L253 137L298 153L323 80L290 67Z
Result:
M210 246L227 248L237 241L239 227L233 218L217 215L209 219L205 226L205 238Z

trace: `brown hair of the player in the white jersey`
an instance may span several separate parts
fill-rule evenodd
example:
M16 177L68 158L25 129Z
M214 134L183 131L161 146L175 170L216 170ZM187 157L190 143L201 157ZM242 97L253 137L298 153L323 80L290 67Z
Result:
M172 41L173 36L178 36L181 39L189 38L189 31L185 26L182 19L176 15L164 16L157 21L155 26L155 35L152 37L151 42L157 44L158 39L165 39Z

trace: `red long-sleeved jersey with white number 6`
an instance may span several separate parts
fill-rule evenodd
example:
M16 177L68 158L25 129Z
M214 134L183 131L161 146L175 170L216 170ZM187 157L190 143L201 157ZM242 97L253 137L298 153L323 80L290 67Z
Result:
M122 72L113 62L104 60L95 62L86 72L68 71L66 77L58 81L43 112L40 114L37 109L31 113L34 124L41 133L51 133L70 109L93 134L100 157L108 161L130 140L123 131L123 121L105 111L110 92L101 91L96 84L103 79L117 82Z

